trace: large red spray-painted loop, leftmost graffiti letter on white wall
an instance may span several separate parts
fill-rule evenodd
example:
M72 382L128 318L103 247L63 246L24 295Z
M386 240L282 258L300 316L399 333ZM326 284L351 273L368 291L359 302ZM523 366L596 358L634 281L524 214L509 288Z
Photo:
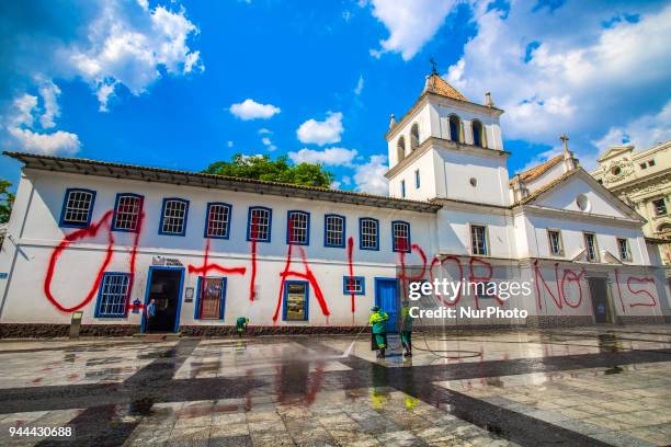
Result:
M47 267L47 273L44 278L44 295L58 310L64 311L64 312L73 312L87 306L93 299L93 296L95 296L95 293L98 291L98 288L100 287L100 282L102 280L105 268L107 268L107 265L110 265L110 262L112 261L112 254L113 254L112 250L114 247L114 236L112 234L111 225L110 225L112 220L112 215L113 215L113 211L110 210L105 213L98 222L91 225L90 227L82 228L81 230L72 231L71 233L67 234L60 241L58 247L56 247L54 251L52 252L52 256L49 257L49 264ZM54 272L56 270L56 264L58 263L58 259L60 257L62 252L70 245L70 243L75 241L79 241L81 239L86 239L86 238L94 238L101 228L107 229L107 249L105 250L105 257L100 268L98 270L98 273L95 274L93 284L91 285L91 288L89 289L88 294L78 305L75 305L72 307L62 306L52 294L52 280L54 279Z

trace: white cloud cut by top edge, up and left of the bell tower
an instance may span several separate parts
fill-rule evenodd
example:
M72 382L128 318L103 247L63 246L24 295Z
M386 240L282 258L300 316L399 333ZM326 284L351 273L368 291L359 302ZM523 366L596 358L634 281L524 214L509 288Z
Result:
M389 32L380 41L380 49L371 55L400 53L403 60L410 60L441 27L445 18L457 3L455 0L372 0L373 16ZM361 4L361 3L360 3Z

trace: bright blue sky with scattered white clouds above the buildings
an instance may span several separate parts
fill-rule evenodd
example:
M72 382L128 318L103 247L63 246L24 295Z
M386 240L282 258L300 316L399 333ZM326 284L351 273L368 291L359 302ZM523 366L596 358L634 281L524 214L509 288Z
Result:
M587 168L671 138L669 2L24 1L0 22L3 150L184 170L288 154L385 193L389 114L431 57L507 111L511 174L564 131Z

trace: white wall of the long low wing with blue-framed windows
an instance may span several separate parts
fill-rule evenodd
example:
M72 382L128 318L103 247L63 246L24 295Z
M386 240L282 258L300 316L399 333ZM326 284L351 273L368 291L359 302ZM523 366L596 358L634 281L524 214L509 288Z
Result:
M69 312L61 312L45 297L43 290L49 260L55 248L72 229L59 228L58 221L68 187L86 187L96 191L93 208L93 226L102 222L95 234L72 242L60 254L55 264L50 290L64 307L81 302L94 284L99 266L107 253L110 237L114 239L112 257L105 272L129 272L134 233L109 231L110 211L114 208L117 193L136 193L145 196L146 218L137 244L136 275L130 301L145 300L148 270L156 256L178 260L185 268L183 290L196 288L198 274L187 270L204 263L207 240L204 238L205 210L208 202L226 202L232 205L230 238L212 239L207 252L208 263L225 267L244 267L244 275L229 275L225 323L232 323L241 314L248 316L252 324L283 325L273 321L280 299L281 273L286 267L288 247L286 243L287 210L310 213L310 243L294 247L291 270L305 272L300 250L305 250L306 264L322 289L331 316L320 311L314 287L310 286L309 320L292 324L352 325L367 321L374 303L375 277L396 276L399 253L391 249L391 221L405 220L411 226L411 241L434 252L435 216L387 208L348 206L319 200L277 197L260 194L231 193L145 182L121 182L113 179L47 172L27 172L20 183L16 206L12 214L11 234L13 242L5 243L0 256L0 268L11 272L8 280L0 283L3 297L2 322L50 322L68 323ZM190 200L185 237L158 233L163 197L180 197ZM251 247L247 241L249 206L265 206L273 210L271 242L257 243L255 283L257 300L249 299L251 279ZM349 275L348 249L327 248L323 244L325 214L341 214L345 217L345 238L353 239L352 263L354 276L365 277L365 295L355 297L355 311L351 311L351 297L343 294L343 276ZM373 217L379 220L379 250L361 250L359 245L359 218ZM20 245L15 250L16 244ZM209 276L209 275L208 275ZM218 276L213 274L213 276ZM296 278L294 278L296 279ZM9 288L7 287L9 283ZM82 310L83 323L121 322L139 323L139 314L129 313L127 319L95 319L96 295ZM183 299L184 297L182 297ZM194 300L195 302L195 300ZM194 302L183 302L181 324L213 324L193 321ZM214 322L216 324L216 322Z

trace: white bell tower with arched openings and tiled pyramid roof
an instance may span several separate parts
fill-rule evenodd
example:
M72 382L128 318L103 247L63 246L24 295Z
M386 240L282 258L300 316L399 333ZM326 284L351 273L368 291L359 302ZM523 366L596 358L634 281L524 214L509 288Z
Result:
M502 113L490 93L477 104L435 70L427 76L410 111L389 121L389 195L510 205Z

